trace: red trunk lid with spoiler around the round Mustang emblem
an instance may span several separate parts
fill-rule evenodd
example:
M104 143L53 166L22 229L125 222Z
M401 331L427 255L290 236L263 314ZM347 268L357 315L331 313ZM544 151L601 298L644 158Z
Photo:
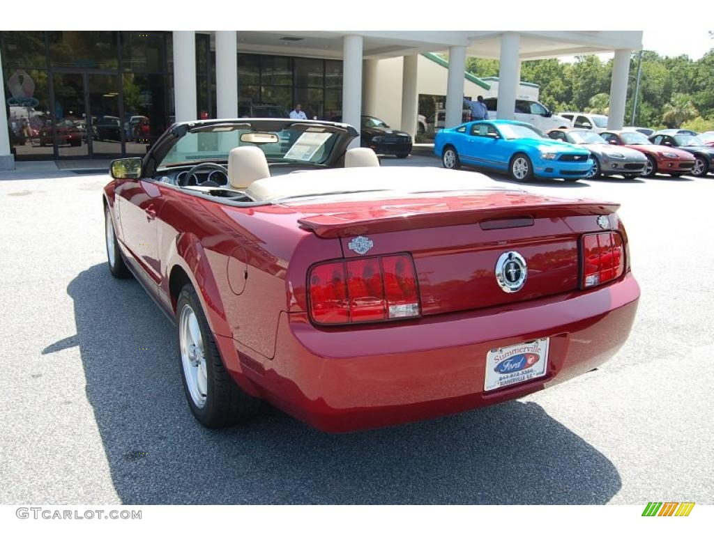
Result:
M610 221L618 205L503 190L332 208L298 221L320 238L341 240L345 258L410 253L421 313L433 315L577 289L580 234L603 230L598 216ZM508 253L526 261L516 291L503 290L496 277Z

